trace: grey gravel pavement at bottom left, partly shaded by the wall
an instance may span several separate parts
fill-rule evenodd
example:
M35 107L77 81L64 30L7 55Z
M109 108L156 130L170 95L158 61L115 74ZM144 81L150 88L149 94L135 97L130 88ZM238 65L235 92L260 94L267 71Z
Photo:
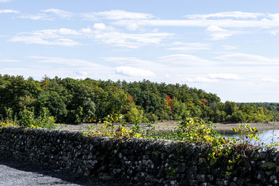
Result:
M27 162L8 160L0 157L0 185L129 185L121 183L100 183L72 173L39 166Z

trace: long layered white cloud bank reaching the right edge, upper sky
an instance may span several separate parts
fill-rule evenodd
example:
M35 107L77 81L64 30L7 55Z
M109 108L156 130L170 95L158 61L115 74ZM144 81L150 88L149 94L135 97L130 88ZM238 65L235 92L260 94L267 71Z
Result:
M126 26L135 30L142 26L185 26L205 28L212 40L222 40L236 34L249 33L244 29L279 27L279 14L221 12L208 15L186 15L188 20L117 20L113 22L118 26ZM214 18L214 19L213 19ZM234 29L234 30L231 30ZM236 30L237 29L237 30ZM275 32L271 32L275 33Z

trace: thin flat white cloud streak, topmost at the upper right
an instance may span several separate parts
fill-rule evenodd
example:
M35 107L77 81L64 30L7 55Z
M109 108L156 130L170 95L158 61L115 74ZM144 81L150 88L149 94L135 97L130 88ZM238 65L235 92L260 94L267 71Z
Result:
M234 12L221 12L221 13L210 13L210 14L195 14L195 15L185 15L189 19L207 19L207 18L223 18L223 17L234 17L236 19L246 19L246 18L257 18L263 17L264 13L244 13L241 11Z

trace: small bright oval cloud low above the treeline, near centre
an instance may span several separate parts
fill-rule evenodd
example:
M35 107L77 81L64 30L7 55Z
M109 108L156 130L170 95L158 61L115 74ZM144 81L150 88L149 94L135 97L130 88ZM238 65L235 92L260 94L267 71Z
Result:
M154 77L155 74L150 70L142 70L141 68L134 68L130 66L119 66L115 68L115 73L131 77Z

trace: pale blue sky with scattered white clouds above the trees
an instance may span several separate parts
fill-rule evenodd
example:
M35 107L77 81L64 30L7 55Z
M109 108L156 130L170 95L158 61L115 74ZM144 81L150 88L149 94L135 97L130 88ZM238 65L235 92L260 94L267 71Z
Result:
M279 1L0 0L0 74L148 79L279 102Z

